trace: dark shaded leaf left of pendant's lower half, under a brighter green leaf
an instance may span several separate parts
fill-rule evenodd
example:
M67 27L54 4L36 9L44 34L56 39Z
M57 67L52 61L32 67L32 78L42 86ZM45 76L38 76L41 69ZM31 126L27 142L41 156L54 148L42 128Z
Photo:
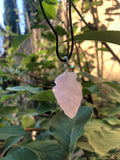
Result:
M48 101L41 101L37 107L37 112L39 114L43 114L48 111L52 111L56 109L56 104Z

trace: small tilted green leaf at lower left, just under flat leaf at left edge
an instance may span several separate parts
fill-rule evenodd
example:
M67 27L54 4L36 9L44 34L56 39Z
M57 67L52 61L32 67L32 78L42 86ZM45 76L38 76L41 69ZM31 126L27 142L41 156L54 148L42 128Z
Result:
M4 144L4 149L8 150L9 148L11 148L14 144L16 144L17 142L19 142L22 139L22 137L15 137L15 136L11 136L9 138L6 139L5 144Z

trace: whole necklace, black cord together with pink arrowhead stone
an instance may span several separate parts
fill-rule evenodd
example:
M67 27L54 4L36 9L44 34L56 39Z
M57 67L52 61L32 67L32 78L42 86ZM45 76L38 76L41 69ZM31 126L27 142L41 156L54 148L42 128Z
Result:
M70 30L71 30L71 50L68 54L68 57L65 56L64 59L61 58L58 52L58 35L55 31L54 27L48 20L44 8L42 5L42 1L39 0L39 4L42 10L42 13L52 29L55 37L56 37L56 54L60 61L67 62L69 68L69 59L72 56L73 47L74 47L74 36L73 36L73 28L72 28L72 18L71 18L71 0L69 0L69 21L70 21ZM82 86L81 83L76 80L77 74L74 72L70 72L69 69L64 71L61 75L59 75L55 79L56 86L53 87L52 91L57 99L59 106L62 108L64 113L73 119L78 111L78 108L81 105L82 100Z

